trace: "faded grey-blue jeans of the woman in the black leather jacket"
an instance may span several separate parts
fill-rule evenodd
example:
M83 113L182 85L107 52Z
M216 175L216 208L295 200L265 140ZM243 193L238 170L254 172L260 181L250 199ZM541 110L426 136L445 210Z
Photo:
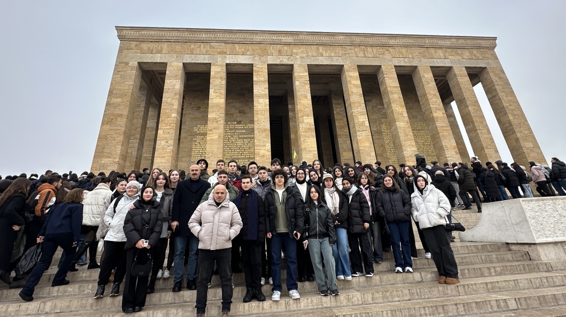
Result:
M338 289L330 239L328 237L323 239L308 239L308 253L311 254L312 268L314 268L315 271L316 287L318 287L319 292ZM320 254L322 254L323 258L320 258ZM323 259L326 277L322 270Z

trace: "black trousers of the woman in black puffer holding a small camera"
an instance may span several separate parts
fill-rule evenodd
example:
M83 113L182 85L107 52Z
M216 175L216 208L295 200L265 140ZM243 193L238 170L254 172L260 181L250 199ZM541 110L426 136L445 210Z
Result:
M132 248L126 250L126 282L124 283L124 293L122 294L122 311L128 308L144 307L145 298L147 297L148 276L136 277L132 276L132 263L136 253L142 256L142 253L148 253L151 250ZM116 276L114 274L114 276Z

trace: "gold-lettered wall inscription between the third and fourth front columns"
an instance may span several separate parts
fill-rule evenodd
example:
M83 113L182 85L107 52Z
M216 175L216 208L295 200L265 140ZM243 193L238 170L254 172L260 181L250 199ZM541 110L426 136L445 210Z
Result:
M254 160L254 124L228 121L224 129L224 159L240 164Z

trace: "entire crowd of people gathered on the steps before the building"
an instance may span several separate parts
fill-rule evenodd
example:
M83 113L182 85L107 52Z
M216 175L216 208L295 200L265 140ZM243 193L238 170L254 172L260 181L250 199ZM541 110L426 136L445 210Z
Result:
M185 285L196 290L197 316L203 316L212 275L218 274L222 315L228 316L234 273L245 275L243 302L265 301L265 284L272 285L272 301L281 299L283 257L286 290L294 300L305 281L315 281L321 296L338 296L337 280L371 278L383 252L392 252L395 273L413 272L414 222L438 282L456 284L454 236L445 230L452 211L471 209L474 202L482 212L486 202L533 197L531 182L541 196L554 196L554 190L564 196L566 165L556 157L551 162L531 161L525 168L471 157L469 165L439 166L417 153L415 164L398 169L381 168L379 161L282 166L275 158L268 167L218 160L209 174L203 158L188 174L154 168L10 176L0 180L0 280L22 288L20 297L32 301L57 248L63 253L54 287L70 283L67 272L87 265L88 252L87 269L99 269L94 298L103 298L109 283L109 296L119 296L123 283L125 313L143 310L156 280L172 275L173 292ZM28 276L12 278L37 243L37 265Z

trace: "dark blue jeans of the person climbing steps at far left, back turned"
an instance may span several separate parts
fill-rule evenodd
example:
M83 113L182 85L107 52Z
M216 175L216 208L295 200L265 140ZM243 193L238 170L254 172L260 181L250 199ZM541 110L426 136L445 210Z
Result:
M52 285L63 283L76 252L76 246L72 246L72 243L73 236L71 233L46 235L43 240L43 252L41 253L41 258L37 262L37 265L33 268L31 274L29 274L28 280L25 281L22 293L29 296L33 295L35 287L37 283L39 283L41 276L43 276L45 270L47 270L51 265L53 254L57 251L58 246L61 246L63 252L65 252L65 259L63 260L63 263L61 263L57 273L55 273Z

